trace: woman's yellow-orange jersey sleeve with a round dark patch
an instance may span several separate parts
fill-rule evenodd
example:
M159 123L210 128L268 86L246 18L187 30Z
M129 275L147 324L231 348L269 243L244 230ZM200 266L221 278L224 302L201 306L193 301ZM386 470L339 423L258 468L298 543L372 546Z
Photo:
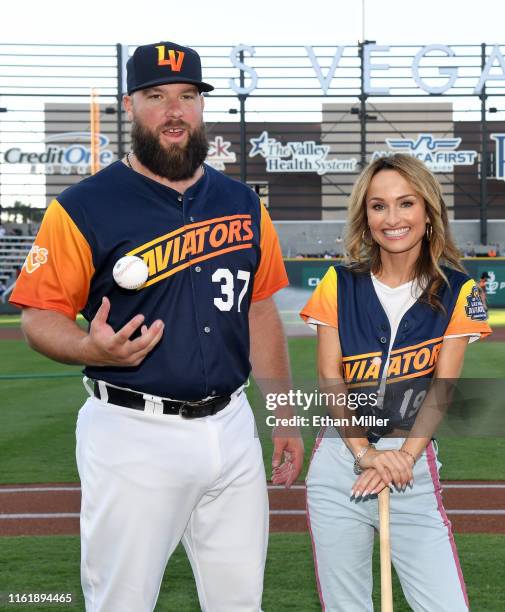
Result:
M487 313L480 299L475 281L468 280L461 287L458 300L444 336L472 334L485 338L492 333Z

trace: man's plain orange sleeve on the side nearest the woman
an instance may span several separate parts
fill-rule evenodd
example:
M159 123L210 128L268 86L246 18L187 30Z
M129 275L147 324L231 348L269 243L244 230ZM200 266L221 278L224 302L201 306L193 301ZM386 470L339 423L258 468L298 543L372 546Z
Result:
M252 301L258 302L289 285L286 268L282 261L281 245L274 224L261 204L261 260L254 276Z

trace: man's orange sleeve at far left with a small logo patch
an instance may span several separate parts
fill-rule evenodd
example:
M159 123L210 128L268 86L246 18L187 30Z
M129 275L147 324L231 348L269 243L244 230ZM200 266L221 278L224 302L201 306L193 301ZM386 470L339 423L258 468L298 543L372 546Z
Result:
M65 209L53 200L9 301L75 319L88 300L94 273L88 242Z

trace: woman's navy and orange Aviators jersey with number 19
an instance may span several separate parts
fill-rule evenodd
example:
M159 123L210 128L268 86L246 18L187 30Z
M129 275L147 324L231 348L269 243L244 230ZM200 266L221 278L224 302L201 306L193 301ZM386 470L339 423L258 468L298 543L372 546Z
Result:
M374 393L387 382L380 409L381 416L389 418L389 428L412 426L422 403L416 398L426 395L445 337L491 333L475 282L457 270L443 270L449 281L439 294L444 311L415 301L392 345L391 326L370 274L331 267L300 313L305 321L315 319L338 329L342 377L348 387ZM372 402L363 412L373 414L374 408Z

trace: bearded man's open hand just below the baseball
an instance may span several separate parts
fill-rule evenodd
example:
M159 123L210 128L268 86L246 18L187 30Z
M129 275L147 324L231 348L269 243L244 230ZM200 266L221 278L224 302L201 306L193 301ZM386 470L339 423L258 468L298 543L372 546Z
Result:
M91 321L89 333L81 339L84 363L90 366L138 366L161 340L163 321L157 319L147 327L144 315L138 314L115 332L107 323L109 312L110 300L104 297ZM130 340L139 327L141 335Z

